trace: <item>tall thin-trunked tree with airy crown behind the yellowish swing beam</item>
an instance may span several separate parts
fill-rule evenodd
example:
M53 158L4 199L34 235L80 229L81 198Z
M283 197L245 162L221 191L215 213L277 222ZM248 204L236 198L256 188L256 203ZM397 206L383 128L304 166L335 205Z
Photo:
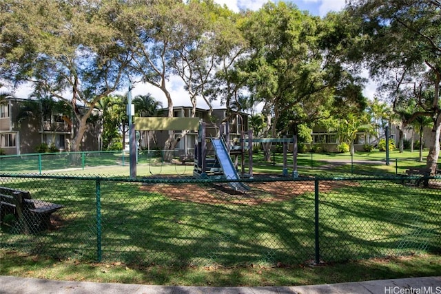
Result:
M212 0L127 1L129 9L119 18L120 28L131 44L130 68L134 78L158 87L167 101L167 116L173 116L174 98L169 79L181 78L196 114L199 97L211 107L206 85L216 69L220 54L229 52L225 30L231 26L232 12ZM223 48L223 52L221 51ZM169 132L165 151L177 140ZM165 159L172 153L166 152Z

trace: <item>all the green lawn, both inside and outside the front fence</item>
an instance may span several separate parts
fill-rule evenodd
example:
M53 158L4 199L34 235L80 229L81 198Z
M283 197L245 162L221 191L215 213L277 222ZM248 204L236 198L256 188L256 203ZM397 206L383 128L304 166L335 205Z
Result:
M355 167L336 165L330 169L325 166L327 161L316 158L311 168L307 167L310 156L299 156L299 162L305 163L301 174L349 174ZM356 169L370 173L384 167L376 163ZM394 167L386 168L394 173ZM177 174L191 175L192 166L141 162L137 171L139 176L174 175L179 179ZM281 167L280 163L257 160L255 171L279 174ZM122 165L91 166L61 173L128 176L129 170ZM324 263L311 266L314 182L309 182L312 190L308 182L277 182L274 191L243 198L209 184L165 182L163 189L154 191L136 182L104 180L100 187L104 262L96 263L94 180L1 180L10 187L31 191L34 198L65 206L57 215L59 229L55 231L0 233L2 275L142 284L283 286L441 272L441 258L436 255L441 252L441 203L431 189L379 180L322 181L320 257ZM203 191L208 191L210 198ZM296 197L283 198L283 191ZM200 201L194 200L198 193ZM260 202L256 205L252 201ZM45 258L48 255L52 258ZM402 255L405 257L399 257Z

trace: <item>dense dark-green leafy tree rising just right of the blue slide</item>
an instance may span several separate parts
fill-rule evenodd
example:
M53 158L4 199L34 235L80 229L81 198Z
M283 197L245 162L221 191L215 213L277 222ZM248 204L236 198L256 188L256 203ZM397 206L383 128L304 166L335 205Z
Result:
M238 66L247 73L249 91L264 103L267 136L323 118L333 106L342 112L364 107L359 80L344 65L350 38L343 20L334 14L323 21L278 2L265 4L243 23L249 59ZM284 126L278 124L281 118ZM264 152L269 160L269 146Z

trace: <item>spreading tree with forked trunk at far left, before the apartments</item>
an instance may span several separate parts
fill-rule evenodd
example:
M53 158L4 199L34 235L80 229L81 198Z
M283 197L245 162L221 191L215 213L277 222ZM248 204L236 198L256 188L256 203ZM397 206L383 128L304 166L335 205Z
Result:
M72 107L81 147L98 101L116 90L128 61L114 28L119 1L5 0L0 13L0 78L30 82ZM70 96L70 98L68 98Z

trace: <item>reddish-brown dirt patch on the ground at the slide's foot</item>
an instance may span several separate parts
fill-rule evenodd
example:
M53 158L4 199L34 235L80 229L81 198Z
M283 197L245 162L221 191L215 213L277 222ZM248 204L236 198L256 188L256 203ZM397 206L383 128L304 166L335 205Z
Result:
M160 193L174 200L203 204L247 204L286 201L305 193L314 193L314 180L246 182L250 187L245 193L234 191L228 183L146 183L142 191ZM355 186L356 182L320 181L320 192L329 192L339 187Z

